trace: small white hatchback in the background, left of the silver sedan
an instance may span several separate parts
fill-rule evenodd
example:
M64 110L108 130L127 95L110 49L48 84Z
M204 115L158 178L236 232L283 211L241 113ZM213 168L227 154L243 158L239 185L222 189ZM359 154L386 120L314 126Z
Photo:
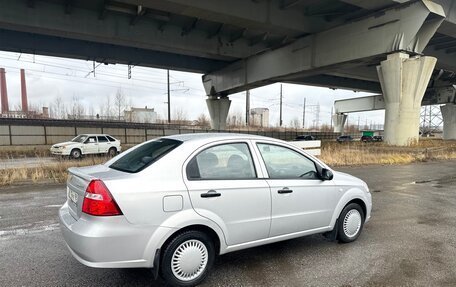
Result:
M115 156L121 151L120 141L106 134L78 135L69 142L55 144L51 154L80 158L87 154L107 154Z

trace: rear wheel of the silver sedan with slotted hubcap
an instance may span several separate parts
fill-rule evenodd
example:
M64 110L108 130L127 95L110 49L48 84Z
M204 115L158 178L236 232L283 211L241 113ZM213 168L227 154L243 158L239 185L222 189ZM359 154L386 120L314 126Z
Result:
M171 286L195 286L214 263L211 238L200 231L185 231L174 237L163 251L161 275Z

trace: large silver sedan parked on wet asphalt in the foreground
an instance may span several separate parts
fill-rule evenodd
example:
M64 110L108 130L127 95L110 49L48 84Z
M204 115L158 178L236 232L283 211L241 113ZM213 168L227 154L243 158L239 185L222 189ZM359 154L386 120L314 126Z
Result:
M362 180L284 141L190 134L71 168L61 230L71 254L102 268L153 268L193 286L216 255L315 233L348 243L369 220Z

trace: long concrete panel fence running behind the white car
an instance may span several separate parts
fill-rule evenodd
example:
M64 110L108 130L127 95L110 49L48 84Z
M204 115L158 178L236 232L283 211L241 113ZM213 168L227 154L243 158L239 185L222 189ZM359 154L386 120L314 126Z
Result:
M0 119L0 146L52 145L69 141L79 134L109 134L119 139L122 144L132 145L161 136L208 132L214 131L200 127L125 122ZM332 132L303 132L295 129L280 131L229 129L216 132L255 134L288 141L302 134L313 135L322 140L335 139L339 135Z

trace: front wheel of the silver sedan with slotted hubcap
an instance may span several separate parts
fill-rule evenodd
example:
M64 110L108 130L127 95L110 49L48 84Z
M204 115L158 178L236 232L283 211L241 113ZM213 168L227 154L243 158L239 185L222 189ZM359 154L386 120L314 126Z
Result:
M347 216L347 214L349 214ZM364 212L357 203L344 207L339 215L337 234L340 243L350 243L358 239L364 226Z

